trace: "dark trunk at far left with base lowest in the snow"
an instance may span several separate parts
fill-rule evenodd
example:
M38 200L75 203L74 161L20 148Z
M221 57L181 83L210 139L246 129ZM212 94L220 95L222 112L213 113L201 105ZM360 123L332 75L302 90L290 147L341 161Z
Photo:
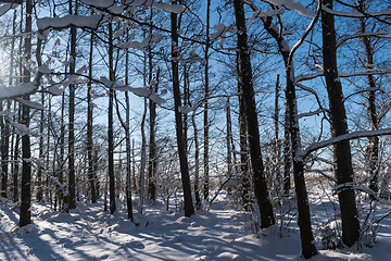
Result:
M25 34L25 45L24 45L24 54L25 59L28 61L31 58L31 20L33 20L33 2L26 0L26 27ZM30 82L30 72L24 67L23 72L24 82ZM29 100L29 95L23 97L25 100ZM27 105L22 105L22 124L26 127L29 125L29 108ZM20 214L20 226L25 226L31 223L31 158L30 151L30 138L27 134L22 136L22 201L21 201L21 214Z

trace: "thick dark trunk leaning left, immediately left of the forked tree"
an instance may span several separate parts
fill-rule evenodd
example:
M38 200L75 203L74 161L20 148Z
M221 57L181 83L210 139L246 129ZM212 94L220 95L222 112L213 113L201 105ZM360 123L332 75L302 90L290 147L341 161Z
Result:
M240 58L240 79L245 105L245 122L251 156L251 166L253 171L254 192L261 212L261 227L268 227L275 224L275 216L273 206L268 197L261 153L260 129L253 87L250 49L248 47L243 2L241 0L234 0L234 7L236 24L238 28L237 35Z

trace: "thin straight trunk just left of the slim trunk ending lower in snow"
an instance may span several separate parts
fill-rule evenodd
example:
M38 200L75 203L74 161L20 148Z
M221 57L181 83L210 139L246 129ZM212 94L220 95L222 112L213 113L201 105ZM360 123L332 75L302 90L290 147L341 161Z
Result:
M109 22L109 74L110 80L114 82L114 62L113 62L113 25ZM114 177L114 136L113 136L113 108L114 90L109 90L109 190L110 190L110 213L114 214L115 203L115 177Z

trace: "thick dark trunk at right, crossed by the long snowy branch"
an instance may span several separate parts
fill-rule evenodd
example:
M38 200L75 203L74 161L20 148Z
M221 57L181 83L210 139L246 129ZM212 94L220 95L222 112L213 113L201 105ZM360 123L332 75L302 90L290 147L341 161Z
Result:
M324 5L332 10L333 0L324 0ZM335 17L321 11L323 27L323 57L326 87L329 98L332 137L348 134L346 112L343 104L343 92L337 69L337 40ZM353 183L352 153L349 140L343 140L333 146L335 161L337 163L336 176L339 185ZM360 237L360 222L352 188L338 191L342 220L342 241L353 246Z

